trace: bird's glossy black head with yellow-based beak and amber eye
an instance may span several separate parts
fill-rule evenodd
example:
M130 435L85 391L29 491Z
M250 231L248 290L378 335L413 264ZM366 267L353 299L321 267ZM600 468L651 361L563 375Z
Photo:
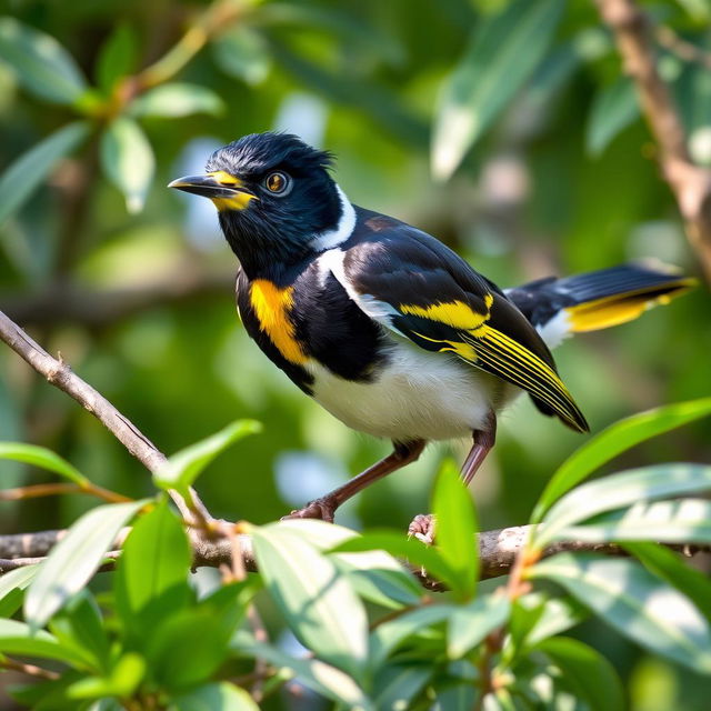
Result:
M296 136L252 133L212 153L204 174L169 188L212 200L230 247L256 274L318 251L352 211L328 172L331 160Z

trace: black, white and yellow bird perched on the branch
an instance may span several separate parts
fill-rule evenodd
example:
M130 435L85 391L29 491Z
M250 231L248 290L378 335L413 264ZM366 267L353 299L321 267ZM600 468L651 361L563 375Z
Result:
M350 202L334 157L299 137L252 133L169 188L210 199L239 260L247 333L307 395L392 452L286 518L333 521L352 495L433 440L471 437L469 484L498 414L521 393L577 432L589 425L551 348L635 319L694 286L629 263L501 289L437 238ZM427 535L431 517L413 519Z

